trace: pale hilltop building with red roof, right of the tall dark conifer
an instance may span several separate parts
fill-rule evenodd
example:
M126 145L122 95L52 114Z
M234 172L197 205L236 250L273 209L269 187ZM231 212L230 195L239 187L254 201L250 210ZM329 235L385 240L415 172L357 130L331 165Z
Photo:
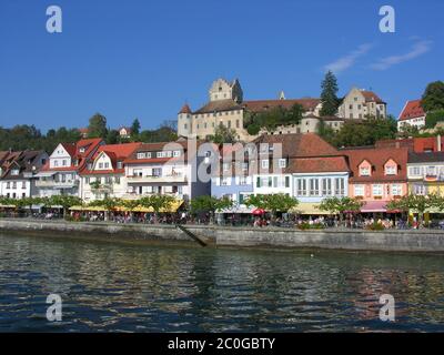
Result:
M366 116L386 118L387 104L373 91L353 88L343 99L337 115L346 120L363 120Z

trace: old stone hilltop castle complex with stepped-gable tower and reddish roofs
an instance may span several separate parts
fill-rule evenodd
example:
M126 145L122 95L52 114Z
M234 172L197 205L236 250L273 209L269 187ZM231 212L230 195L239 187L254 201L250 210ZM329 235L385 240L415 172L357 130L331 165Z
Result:
M215 80L209 91L210 101L199 110L191 110L184 104L178 114L178 135L184 138L205 139L215 133L219 125L224 125L236 132L241 141L252 141L256 135L250 135L244 126L248 113L259 113L276 106L291 109L300 104L304 114L299 124L278 126L273 134L315 133L321 122L339 130L345 120L364 119L366 114L385 118L385 102L372 91L353 88L343 99L335 116L321 118L322 103L320 99L286 99L283 92L274 100L244 101L243 91L238 79L229 82L224 79ZM262 133L270 133L261 131Z

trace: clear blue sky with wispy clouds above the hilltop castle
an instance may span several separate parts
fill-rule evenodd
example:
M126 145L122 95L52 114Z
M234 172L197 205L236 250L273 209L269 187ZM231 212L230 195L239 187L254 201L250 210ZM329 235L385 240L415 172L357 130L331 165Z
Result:
M63 11L63 32L46 10ZM381 33L379 10L396 11ZM444 79L440 0L0 0L0 125L155 128L211 82L239 78L244 98L319 97L326 68L340 93L373 89L397 116Z

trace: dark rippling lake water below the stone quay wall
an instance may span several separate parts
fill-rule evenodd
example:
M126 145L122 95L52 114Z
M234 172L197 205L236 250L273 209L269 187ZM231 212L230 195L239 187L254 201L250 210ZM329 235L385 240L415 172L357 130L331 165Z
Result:
M59 294L62 322L47 321ZM393 323L379 297L395 297ZM444 331L444 256L0 234L0 332Z

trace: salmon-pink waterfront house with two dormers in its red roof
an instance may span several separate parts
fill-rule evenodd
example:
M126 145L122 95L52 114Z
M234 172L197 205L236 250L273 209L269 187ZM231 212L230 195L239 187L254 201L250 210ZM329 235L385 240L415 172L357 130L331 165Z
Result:
M407 148L343 150L349 158L349 196L365 202L364 213L387 212L386 204L407 194Z

